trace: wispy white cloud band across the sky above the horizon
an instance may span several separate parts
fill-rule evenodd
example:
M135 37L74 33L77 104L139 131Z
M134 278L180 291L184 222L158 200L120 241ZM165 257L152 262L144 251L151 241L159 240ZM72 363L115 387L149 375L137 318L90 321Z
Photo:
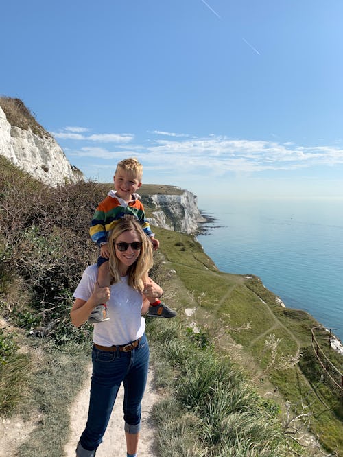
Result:
M343 149L338 145L296 145L292 142L279 143L265 140L233 139L210 134L206 137L192 137L187 134L172 134L154 130L151 134L162 134L165 138L147 137L144 142L133 142L133 134L92 134L59 132L58 137L91 141L92 145L73 148L68 154L80 158L76 166L82 169L86 158L108 161L108 167L124 157L134 156L143 163L145 176L156 176L160 182L169 179L179 182L225 179L224 176L252 176L265 172L263 176L292 176L299 169L319 169L343 165ZM56 135L57 136L57 135ZM167 138L167 136L171 138ZM127 143L130 141L130 148ZM115 148L103 148L102 143L113 142ZM94 145L93 145L94 144ZM307 172L308 174L308 172ZM189 176L189 178L187 178ZM162 180L162 181L161 181ZM152 182L150 180L150 182ZM156 181L155 181L156 182Z

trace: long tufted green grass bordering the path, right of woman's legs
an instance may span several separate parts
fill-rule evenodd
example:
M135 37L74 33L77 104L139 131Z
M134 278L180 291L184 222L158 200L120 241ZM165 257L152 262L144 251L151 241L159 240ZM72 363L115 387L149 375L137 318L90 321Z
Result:
M199 347L176 320L152 321L148 333L156 383L171 392L154 407L161 456L293 455L294 443L276 420L278 408L271 414L272 408L264 407L239 366L211 344ZM172 367L168 375L165 366Z

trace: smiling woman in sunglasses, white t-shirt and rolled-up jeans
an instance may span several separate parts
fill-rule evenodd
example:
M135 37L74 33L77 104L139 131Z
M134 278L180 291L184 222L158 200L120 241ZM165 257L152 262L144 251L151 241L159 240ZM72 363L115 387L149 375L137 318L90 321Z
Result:
M97 266L89 266L75 290L71 320L75 327L86 322L93 308L107 302L110 320L93 331L93 375L86 428L76 456L92 457L108 425L121 382L124 387L124 430L127 457L137 456L141 427L141 399L147 381L149 347L145 320L152 296L163 290L147 272L152 267L152 244L135 218L119 221L108 239L110 288L97 284ZM143 292L147 298L143 300ZM113 449L115 453L115 449Z

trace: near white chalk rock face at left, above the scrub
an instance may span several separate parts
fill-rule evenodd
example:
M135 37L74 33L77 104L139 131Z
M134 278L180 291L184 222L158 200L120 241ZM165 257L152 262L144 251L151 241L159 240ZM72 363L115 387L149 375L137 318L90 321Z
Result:
M0 107L0 154L13 165L51 186L77 183L82 172L71 165L60 145L49 137L39 137L29 128L11 126Z

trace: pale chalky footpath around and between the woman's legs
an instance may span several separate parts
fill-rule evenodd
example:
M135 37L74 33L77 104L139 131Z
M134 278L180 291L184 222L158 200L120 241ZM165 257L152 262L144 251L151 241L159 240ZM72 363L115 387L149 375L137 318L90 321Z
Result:
M64 457L75 457L75 449L86 425L89 389L91 386L91 365L88 366L87 381L82 386L75 398L70 414L71 435L64 446ZM147 375L147 387L142 401L142 427L139 439L139 457L156 457L154 453L154 430L151 428L149 416L152 406L158 401L158 393L153 384L153 371L149 369ZM126 456L126 442L123 431L123 386L119 389L115 406L104 434L104 440L97 450L97 457L124 457Z

